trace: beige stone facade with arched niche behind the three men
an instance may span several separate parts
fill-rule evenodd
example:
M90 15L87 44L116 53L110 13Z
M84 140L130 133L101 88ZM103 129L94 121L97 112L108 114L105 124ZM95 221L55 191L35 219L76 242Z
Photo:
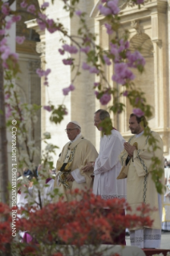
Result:
M100 1L97 0L80 0L79 9L87 12L87 22L91 31L99 35L99 43L107 50L110 38L104 27L104 17L99 14L99 3ZM129 30L132 51L141 48L146 59L144 73L140 75L135 72L135 83L145 92L148 104L153 107L149 125L154 131L160 133L164 140L164 156L170 158L170 1L145 0L144 6L139 9L133 5L132 1L119 0L119 6L122 13L119 37L123 35L124 29ZM72 35L75 34L79 26L79 19L77 17L71 19L63 10L62 2L55 1L54 6L47 10L47 15L50 18L60 18L68 32ZM45 105L51 101L57 106L64 103L68 109L68 115L58 126L51 124L49 115L42 110L41 133L51 132L51 141L60 147L59 153L67 142L64 128L70 120L77 120L82 126L83 135L99 149L100 135L93 125L93 116L95 110L101 106L95 100L92 89L93 83L98 78L95 75L90 76L86 71L83 72L74 82L76 90L64 99L62 89L71 84L75 74L71 72L70 67L64 66L62 63L63 56L58 51L62 46L59 42L59 34L50 34L47 31L42 33L38 31L38 27L32 21L27 22L27 27L34 28L40 35L41 41L37 43L37 49L41 54L42 67L51 67L52 70L49 76L50 86L43 87L41 85L41 104ZM83 62L83 58L81 61ZM107 78L110 80L112 70L113 67L106 70ZM117 85L113 84L113 86ZM119 86L119 91L121 90L122 87ZM131 136L128 129L128 118L132 107L125 97L120 100L126 104L126 109L119 116L113 116L113 125L127 140ZM57 157L55 156L55 162Z

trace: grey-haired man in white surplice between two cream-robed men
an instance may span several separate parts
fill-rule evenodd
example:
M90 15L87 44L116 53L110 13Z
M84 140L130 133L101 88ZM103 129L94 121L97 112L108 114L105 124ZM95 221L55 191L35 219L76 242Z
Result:
M111 122L107 111L99 109L95 112L94 124L98 130L100 130L99 124L105 119ZM123 136L115 128L112 128L111 135L101 137L99 156L95 162L88 163L83 169L84 172L88 172L94 167L93 193L100 195L104 200L126 198L126 180L117 180L121 170L119 154L123 150L124 142ZM109 209L105 209L105 216L107 216L108 211ZM122 209L121 214L125 215L124 209ZM125 230L117 232L117 234L115 234L115 230L112 230L111 237L113 244L126 245ZM104 241L103 243L107 242Z

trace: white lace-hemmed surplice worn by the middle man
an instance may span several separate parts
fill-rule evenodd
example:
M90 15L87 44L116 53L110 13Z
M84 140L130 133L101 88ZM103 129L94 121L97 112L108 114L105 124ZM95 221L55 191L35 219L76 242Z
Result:
M115 129L100 140L99 156L95 160L93 193L103 199L126 198L126 179L117 180L122 168L119 154L123 151L123 136Z

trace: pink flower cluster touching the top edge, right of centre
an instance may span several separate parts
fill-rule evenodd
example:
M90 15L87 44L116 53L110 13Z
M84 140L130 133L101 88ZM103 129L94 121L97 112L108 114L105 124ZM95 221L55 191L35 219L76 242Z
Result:
M104 2L107 2L106 7L103 5L99 5L99 11L101 14L105 16L110 14L113 14L113 15L119 14L119 6L118 6L119 0L109 0Z

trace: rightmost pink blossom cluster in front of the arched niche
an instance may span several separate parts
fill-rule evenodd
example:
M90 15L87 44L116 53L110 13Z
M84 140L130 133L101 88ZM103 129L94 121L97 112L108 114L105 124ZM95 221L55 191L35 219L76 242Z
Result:
M139 65L143 66L145 65L145 59L140 54L139 51L135 51L134 53L131 53L130 51L127 52L127 65L128 67L137 67Z

